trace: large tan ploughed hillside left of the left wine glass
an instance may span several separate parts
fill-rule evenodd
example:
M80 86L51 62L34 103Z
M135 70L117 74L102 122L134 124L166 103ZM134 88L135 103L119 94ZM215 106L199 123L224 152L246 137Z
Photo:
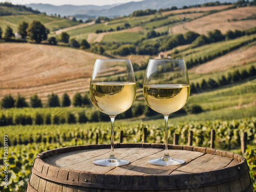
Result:
M89 91L96 59L106 57L72 48L33 44L0 44L0 99L5 94L37 93L43 101L51 92Z

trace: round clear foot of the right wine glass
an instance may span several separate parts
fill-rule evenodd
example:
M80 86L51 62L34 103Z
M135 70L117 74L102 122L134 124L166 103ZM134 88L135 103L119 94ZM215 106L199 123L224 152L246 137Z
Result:
M163 156L161 158L148 160L148 163L157 166L172 166L184 164L185 161L180 159L173 159L170 156Z

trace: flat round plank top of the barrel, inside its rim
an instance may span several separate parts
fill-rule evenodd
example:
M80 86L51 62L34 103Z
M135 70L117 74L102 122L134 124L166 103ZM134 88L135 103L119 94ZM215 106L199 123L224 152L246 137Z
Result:
M152 144L153 145L153 144ZM87 145L90 146L90 145ZM98 146L96 148L95 146ZM99 147L104 146L104 147ZM185 160L185 164L176 166L155 166L147 161L152 158L160 158L163 155L163 145L157 147L142 147L142 144L115 148L115 155L119 159L129 160L131 164L121 167L104 167L93 164L94 160L107 158L110 154L109 145L91 145L86 150L72 150L49 156L43 161L59 168L111 175L175 175L211 172L225 167L238 165L240 159L234 159L233 153L208 149L205 147L176 146L175 150L169 150L169 155L175 159ZM62 148L63 150L64 148ZM79 149L79 148L78 148ZM61 149L59 150L59 152ZM208 152L208 153L207 153ZM216 154L217 152L217 154ZM227 153L230 153L227 155ZM236 154L237 155L237 154ZM236 157L235 157L236 158Z

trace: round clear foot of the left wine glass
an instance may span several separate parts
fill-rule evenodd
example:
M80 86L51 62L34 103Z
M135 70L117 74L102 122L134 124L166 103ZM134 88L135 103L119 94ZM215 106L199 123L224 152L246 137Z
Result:
M95 165L109 166L109 167L119 167L124 165L129 165L130 161L117 159L116 157L109 157L108 159L98 159L93 161Z

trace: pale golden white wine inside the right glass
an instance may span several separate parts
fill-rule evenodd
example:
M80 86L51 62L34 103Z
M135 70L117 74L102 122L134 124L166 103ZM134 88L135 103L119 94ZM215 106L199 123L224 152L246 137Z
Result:
M146 84L143 95L146 103L154 111L171 114L182 108L190 93L187 84Z

